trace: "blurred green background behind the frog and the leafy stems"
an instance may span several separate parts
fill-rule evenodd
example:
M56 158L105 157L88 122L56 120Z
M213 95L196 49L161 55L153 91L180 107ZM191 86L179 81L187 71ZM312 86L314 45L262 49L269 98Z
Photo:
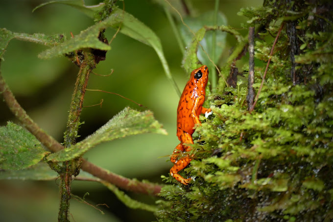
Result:
M0 28L24 33L64 33L70 38L94 22L83 13L65 5L47 5L32 13L32 9L43 0L0 0ZM97 4L98 0L86 0L86 5ZM214 10L214 0L192 0L194 15ZM170 3L177 3L170 0ZM166 60L179 88L184 87L188 74L181 68L182 54L169 25L163 8L153 0L125 0L125 10L149 26L161 39ZM225 14L228 25L239 28L246 18L237 15L242 7L260 6L262 0L220 0L219 9ZM122 7L122 2L120 2ZM107 30L110 40L115 31ZM227 37L227 48L232 50L234 40ZM106 60L100 62L96 74L92 74L88 89L99 89L118 93L143 104L154 112L155 118L164 125L168 136L156 134L137 135L90 150L85 157L111 172L138 179L162 183L161 174L167 175L172 166L168 161L176 137L176 108L178 99L175 90L166 79L155 51L127 36L118 34L107 52ZM40 60L37 55L46 48L33 43L13 40L4 55L1 72L18 101L31 118L58 141L63 141L63 132L71 94L78 68L66 58ZM79 134L84 139L106 123L124 107L144 110L133 102L116 95L87 91L84 105L94 105L103 99L102 107L86 107L82 111ZM0 125L14 121L4 102L0 101ZM0 221L55 221L58 211L58 181L0 181ZM126 208L102 185L94 182L75 181L73 194L83 197L92 204L101 206L102 215L94 208L71 200L71 221L154 221L152 213ZM156 199L143 195L129 195L146 203ZM73 220L74 219L74 220Z

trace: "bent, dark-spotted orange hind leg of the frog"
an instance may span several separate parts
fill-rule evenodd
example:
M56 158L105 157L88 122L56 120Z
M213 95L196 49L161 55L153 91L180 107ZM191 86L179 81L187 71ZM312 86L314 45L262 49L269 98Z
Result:
M183 132L182 135L179 137L180 139L180 144L175 148L173 151L173 154L171 155L171 162L174 163L173 167L170 169L170 175L173 176L176 180L181 182L184 185L188 185L190 183L191 178L185 179L181 175L178 174L179 171L183 170L187 165L189 165L190 161L192 160L189 155L180 158L177 160L176 155L174 153L183 151L190 151L191 147L190 146L185 146L183 145L184 143L186 144L193 144L193 139L192 135L190 135L187 132ZM183 150L181 150L183 149ZM173 162L174 161L174 162Z

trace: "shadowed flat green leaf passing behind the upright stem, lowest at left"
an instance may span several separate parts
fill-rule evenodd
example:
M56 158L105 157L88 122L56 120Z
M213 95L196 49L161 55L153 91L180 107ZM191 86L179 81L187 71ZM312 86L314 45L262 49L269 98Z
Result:
M48 164L45 162L39 162L31 167L18 170L18 171L0 171L0 180L55 180L58 178L58 173L51 170ZM90 173L81 171L78 176L75 177L78 180L95 180L99 181L100 179L96 178Z

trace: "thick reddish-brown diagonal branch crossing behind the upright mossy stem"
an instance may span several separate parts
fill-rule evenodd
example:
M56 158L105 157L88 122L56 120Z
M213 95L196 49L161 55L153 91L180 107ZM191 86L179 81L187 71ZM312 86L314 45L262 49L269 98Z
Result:
M0 60L1 67L1 60ZM20 123L31 133L33 134L45 147L53 152L57 152L64 148L59 142L57 142L53 137L49 136L44 130L42 130L36 123L32 121L32 119L26 114L24 109L15 99L13 93L10 91L8 85L1 75L0 70L0 93L2 93L3 99L5 100L7 106L10 111L14 114L14 116L20 121ZM126 177L122 177L118 174L108 172L93 163L81 158L82 166L81 169L87 173L91 173L92 175L108 181L117 187L137 192L143 194L152 194L158 196L161 191L162 186L153 184L153 183L143 183L137 180L129 179Z

